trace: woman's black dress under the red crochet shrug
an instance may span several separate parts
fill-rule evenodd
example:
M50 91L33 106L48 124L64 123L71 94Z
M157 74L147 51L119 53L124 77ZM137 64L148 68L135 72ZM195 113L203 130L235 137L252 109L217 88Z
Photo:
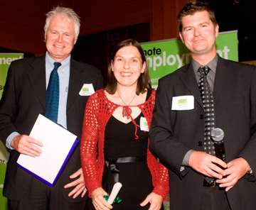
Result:
M134 119L137 125L139 125L141 117L143 117L142 113ZM105 160L115 160L117 157L146 157L149 133L141 131L138 127L137 136L139 139L136 140L135 125L132 121L122 123L111 116L105 128ZM153 190L152 177L146 158L144 161L115 163L115 165L119 168L119 182L122 183L117 197L122 201L119 204L112 204L113 209L149 209L150 204L144 207L139 205ZM110 194L113 185L113 174L107 170L107 175L106 173L103 175L102 186ZM91 209L90 206L92 206L91 199L87 201L87 209ZM93 206L92 209L94 209Z

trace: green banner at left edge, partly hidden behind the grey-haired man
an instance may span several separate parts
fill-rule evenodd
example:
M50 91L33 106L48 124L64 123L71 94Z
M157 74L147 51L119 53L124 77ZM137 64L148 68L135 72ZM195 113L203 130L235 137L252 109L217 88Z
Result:
M13 60L23 58L23 53L0 53L0 99L3 94L4 84L9 66ZM0 142L0 209L7 210L7 199L3 197L4 177L9 154L3 143Z

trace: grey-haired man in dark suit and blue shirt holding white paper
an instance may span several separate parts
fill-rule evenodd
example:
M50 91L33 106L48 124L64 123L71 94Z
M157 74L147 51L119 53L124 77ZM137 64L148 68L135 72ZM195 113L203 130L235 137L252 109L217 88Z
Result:
M9 209L84 209L80 146L54 187L16 165L21 153L36 157L42 152L42 143L28 135L38 114L46 115L46 89L55 62L60 63L57 123L79 139L89 97L82 87L91 93L103 87L100 70L70 58L80 31L78 15L73 9L58 6L46 16L46 55L12 62L1 99L0 138L10 151L4 196L9 199Z

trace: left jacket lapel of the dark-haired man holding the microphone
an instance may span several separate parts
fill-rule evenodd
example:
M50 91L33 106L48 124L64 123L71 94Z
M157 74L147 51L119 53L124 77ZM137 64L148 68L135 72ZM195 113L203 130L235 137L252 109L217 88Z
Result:
M202 106L203 108L203 102L202 102L201 94L198 89L198 83L196 82L196 76L193 71L192 64L190 64L188 68L185 70L185 74L181 76L181 80L183 84L185 84L189 92L191 92L191 94L194 96L196 101L198 101L198 104L200 104L200 106Z

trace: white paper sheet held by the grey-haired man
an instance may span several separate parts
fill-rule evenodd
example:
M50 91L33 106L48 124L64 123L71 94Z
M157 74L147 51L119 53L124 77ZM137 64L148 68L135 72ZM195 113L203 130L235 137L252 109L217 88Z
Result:
M39 157L21 154L17 163L53 184L77 136L41 114L29 136L43 143L42 153Z

